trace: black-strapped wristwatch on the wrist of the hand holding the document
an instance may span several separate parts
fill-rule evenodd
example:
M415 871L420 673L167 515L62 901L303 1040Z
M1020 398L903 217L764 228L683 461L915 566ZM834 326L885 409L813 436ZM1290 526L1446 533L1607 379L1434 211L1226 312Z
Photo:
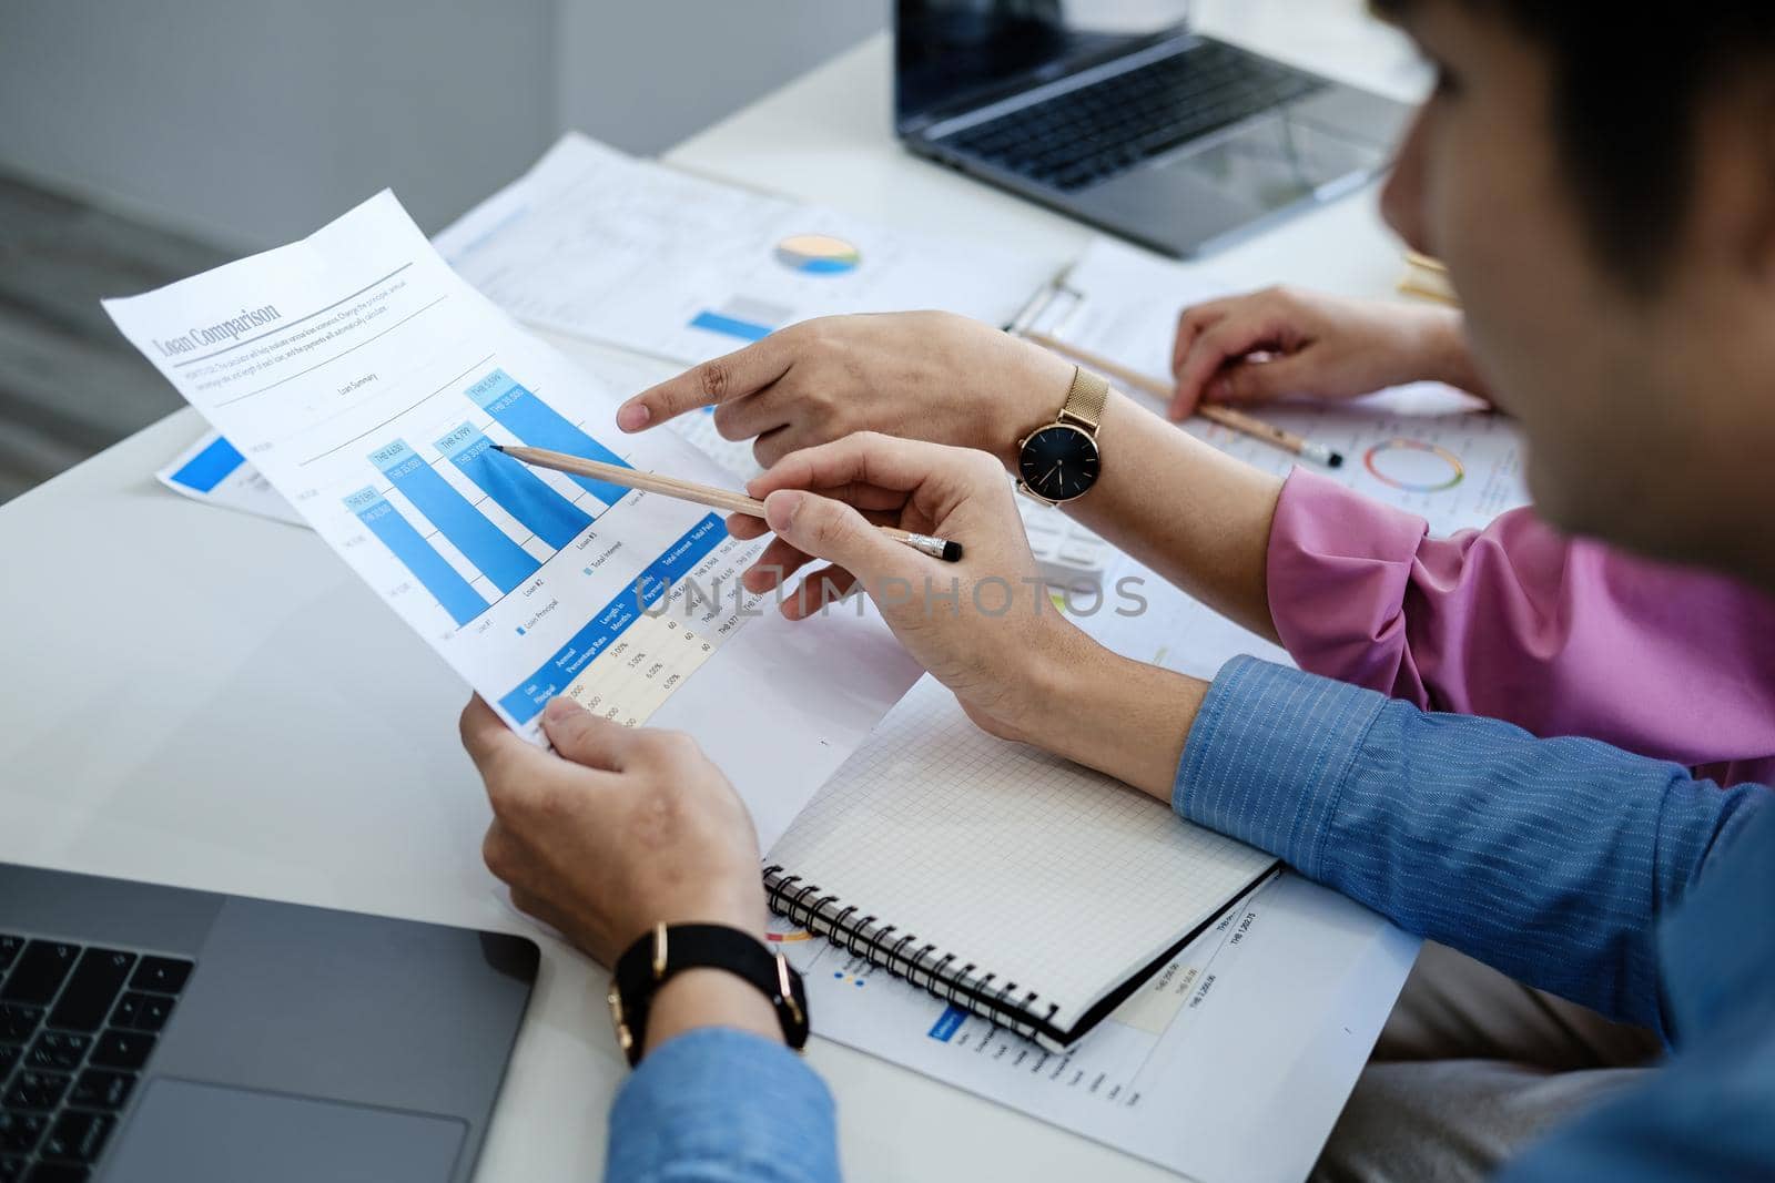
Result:
M641 1062L648 1041L653 991L694 968L726 970L756 986L776 1007L783 1041L797 1052L808 1046L808 991L783 954L722 924L659 924L628 945L611 975L611 1022L630 1068Z

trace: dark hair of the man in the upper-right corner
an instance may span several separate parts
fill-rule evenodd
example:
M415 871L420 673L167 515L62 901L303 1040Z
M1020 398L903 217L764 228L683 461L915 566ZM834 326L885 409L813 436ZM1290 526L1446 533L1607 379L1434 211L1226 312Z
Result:
M1422 4L1370 2L1388 20ZM1656 284L1688 213L1702 106L1752 71L1775 78L1775 4L1457 2L1546 51L1555 142L1590 241L1628 282Z

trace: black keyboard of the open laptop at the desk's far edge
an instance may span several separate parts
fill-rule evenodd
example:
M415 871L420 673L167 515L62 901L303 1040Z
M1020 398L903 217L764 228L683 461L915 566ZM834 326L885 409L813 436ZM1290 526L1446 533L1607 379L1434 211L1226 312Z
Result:
M943 140L1060 190L1079 190L1326 83L1203 41Z

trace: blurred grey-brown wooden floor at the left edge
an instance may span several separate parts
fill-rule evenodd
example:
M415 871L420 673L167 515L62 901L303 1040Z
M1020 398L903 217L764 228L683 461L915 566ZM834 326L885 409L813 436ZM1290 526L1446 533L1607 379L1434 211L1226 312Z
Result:
M99 298L225 259L0 174L0 502L183 404Z

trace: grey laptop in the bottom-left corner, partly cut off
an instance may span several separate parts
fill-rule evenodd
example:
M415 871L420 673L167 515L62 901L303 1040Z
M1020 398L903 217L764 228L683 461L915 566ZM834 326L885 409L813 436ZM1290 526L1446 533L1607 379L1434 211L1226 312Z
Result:
M463 1183L520 936L0 864L0 1179Z

